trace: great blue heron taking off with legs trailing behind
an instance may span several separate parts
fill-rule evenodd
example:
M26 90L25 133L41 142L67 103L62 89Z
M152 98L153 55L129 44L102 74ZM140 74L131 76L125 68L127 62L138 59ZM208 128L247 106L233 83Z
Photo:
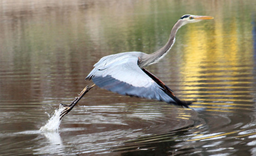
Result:
M188 108L191 102L178 99L169 87L144 67L157 63L169 52L175 43L175 35L179 28L188 23L213 18L211 16L183 15L174 25L167 43L160 50L152 54L125 52L102 57L94 64L94 69L86 77L86 80L92 79L99 87L121 95L156 99ZM88 92L95 84L85 88L84 92ZM67 110L63 115L67 114L74 104L75 102L71 105L64 105Z

